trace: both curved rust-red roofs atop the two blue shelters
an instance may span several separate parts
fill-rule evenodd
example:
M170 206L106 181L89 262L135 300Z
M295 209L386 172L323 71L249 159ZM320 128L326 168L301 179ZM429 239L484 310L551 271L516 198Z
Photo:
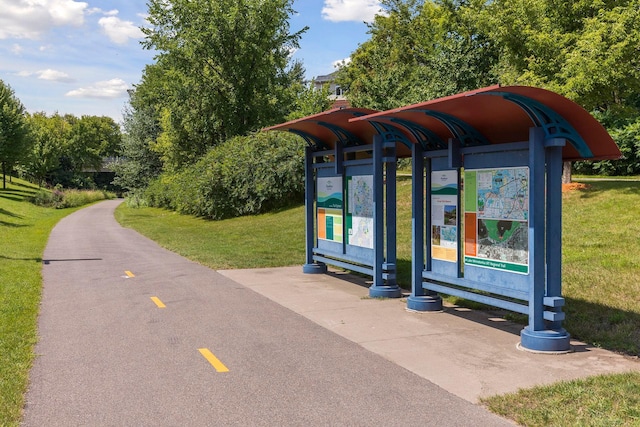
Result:
M399 157L408 145L425 150L447 147L451 138L463 147L529 140L529 129L542 127L547 138L565 138L564 160L617 159L620 150L604 127L573 101L527 86L491 86L382 112L329 110L266 130L289 130L319 149L336 142L370 144L373 135L398 142Z

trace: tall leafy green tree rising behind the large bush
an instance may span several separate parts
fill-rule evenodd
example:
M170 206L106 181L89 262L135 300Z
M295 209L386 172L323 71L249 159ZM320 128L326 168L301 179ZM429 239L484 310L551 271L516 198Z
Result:
M156 148L166 166L179 169L232 136L284 120L295 98L291 86L303 74L291 51L306 31L289 32L292 4L149 1L143 45L159 54L141 92L157 101Z

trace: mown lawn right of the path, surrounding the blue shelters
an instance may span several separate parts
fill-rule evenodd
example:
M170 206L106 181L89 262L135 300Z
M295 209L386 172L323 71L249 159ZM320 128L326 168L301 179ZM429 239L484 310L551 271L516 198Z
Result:
M640 355L640 182L588 181L563 195L565 327L574 338ZM304 263L302 207L206 221L122 205L118 220L212 268ZM398 281L410 286L411 178L398 177ZM639 425L640 374L560 383L487 399L492 410L531 426ZM586 392L588 391L588 392ZM526 403L522 403L526 402ZM557 406L554 414L549 406Z

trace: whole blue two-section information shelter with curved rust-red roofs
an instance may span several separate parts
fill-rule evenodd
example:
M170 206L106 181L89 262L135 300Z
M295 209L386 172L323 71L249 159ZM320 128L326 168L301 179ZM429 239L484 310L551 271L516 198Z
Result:
M459 296L528 315L524 349L570 350L562 328L562 165L620 157L583 108L539 88L492 86L383 112L334 110L270 129L296 132L309 144L305 272L322 272L324 263L370 272L372 296L400 295L395 161L411 156L407 308L439 311L439 294ZM366 194L361 188L373 194L373 213L363 216L374 230L367 245L358 240L364 223L354 220L364 206L355 207Z

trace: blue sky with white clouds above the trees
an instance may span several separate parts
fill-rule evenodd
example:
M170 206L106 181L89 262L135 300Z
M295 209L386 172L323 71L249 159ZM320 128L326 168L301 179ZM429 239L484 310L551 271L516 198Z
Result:
M369 38L378 0L295 0L290 31L309 27L293 58L306 77L335 71ZM155 53L145 50L146 0L0 0L0 80L30 113L110 116Z

